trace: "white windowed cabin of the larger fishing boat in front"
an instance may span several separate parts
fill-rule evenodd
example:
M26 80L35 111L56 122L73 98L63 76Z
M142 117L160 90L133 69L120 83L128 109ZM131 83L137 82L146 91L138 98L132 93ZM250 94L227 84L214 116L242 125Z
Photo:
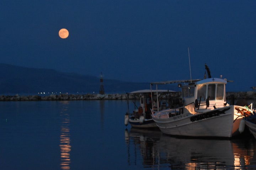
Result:
M225 85L220 78L208 78L182 85L183 106L195 103L197 109L214 109L226 105Z

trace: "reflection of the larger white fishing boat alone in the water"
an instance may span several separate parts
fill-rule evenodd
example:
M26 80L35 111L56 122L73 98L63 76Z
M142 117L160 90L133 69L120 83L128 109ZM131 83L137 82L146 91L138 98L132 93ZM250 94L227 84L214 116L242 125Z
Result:
M154 149L164 155L159 159L160 162L168 160L166 163L176 168L244 169L253 155L248 155L247 149L244 146L240 148L239 144L230 140L173 138L162 135Z

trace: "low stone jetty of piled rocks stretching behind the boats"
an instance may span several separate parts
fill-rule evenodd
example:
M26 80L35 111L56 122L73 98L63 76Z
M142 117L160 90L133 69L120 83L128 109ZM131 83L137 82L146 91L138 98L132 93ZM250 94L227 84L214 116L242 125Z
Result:
M129 95L129 100L139 98L139 96ZM227 92L226 99L235 100L255 100L256 94L254 91L247 92ZM18 94L14 96L1 95L0 101L65 101L65 100L127 100L127 94L59 94L59 95L28 95L20 96Z

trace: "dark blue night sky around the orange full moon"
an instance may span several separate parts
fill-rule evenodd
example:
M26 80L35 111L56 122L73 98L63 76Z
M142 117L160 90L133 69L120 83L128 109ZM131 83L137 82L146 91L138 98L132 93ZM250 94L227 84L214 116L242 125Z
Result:
M255 0L0 1L1 63L133 82L256 86ZM61 39L61 28L69 37Z

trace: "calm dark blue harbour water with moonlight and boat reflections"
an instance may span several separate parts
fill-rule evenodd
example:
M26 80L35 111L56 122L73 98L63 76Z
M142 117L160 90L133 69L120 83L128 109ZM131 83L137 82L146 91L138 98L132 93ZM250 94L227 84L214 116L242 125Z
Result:
M126 101L0 102L1 170L256 169L256 140L124 125Z

